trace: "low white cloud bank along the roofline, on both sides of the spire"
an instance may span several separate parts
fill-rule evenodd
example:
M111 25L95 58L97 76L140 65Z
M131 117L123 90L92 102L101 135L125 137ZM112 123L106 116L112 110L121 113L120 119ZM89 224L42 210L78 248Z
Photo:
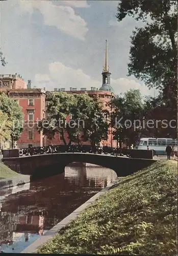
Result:
M35 86L38 88L45 87L46 90L54 90L54 88L65 88L69 90L70 87L86 88L90 90L91 87L100 88L101 81L92 79L89 75L85 74L81 69L72 69L66 67L61 62L53 62L49 64L48 74L36 74ZM120 94L128 91L129 89L139 89L142 95L152 95L151 91L134 79L118 78L111 79L111 86L115 94Z

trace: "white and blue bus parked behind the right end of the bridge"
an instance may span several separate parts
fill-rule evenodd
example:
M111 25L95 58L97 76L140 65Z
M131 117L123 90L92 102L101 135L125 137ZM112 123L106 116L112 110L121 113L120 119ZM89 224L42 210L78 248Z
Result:
M137 146L138 150L149 150L154 151L154 155L166 155L166 146L174 146L177 151L177 140L167 138L141 138Z

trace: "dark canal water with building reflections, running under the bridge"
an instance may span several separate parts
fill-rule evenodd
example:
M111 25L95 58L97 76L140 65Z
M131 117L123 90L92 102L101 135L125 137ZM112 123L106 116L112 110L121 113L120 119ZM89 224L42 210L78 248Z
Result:
M108 168L70 164L65 173L0 190L0 251L21 252L116 178Z

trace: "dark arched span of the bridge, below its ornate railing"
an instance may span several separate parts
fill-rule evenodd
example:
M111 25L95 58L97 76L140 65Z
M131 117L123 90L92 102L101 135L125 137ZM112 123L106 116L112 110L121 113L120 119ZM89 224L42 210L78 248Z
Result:
M123 177L151 165L155 160L88 153L57 153L3 158L3 162L15 172L24 175L40 176L44 173L50 175L54 166L57 167L55 174L59 174L64 172L65 166L69 163L83 162L113 169L118 177Z

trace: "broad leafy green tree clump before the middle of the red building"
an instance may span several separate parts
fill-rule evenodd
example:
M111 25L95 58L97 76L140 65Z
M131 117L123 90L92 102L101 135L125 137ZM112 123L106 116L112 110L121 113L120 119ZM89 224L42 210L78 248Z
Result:
M47 118L39 122L39 131L49 139L60 133L63 143L90 141L98 143L108 138L108 126L104 111L97 98L87 94L49 93L47 97Z

